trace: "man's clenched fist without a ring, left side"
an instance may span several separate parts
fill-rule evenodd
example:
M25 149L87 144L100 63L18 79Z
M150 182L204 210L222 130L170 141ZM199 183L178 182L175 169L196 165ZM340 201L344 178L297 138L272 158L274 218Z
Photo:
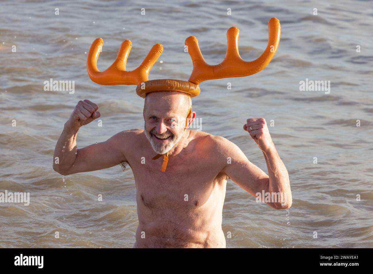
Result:
M87 99L79 101L70 115L69 120L65 123L65 128L69 131L76 131L82 125L89 124L101 116L97 109L98 106Z

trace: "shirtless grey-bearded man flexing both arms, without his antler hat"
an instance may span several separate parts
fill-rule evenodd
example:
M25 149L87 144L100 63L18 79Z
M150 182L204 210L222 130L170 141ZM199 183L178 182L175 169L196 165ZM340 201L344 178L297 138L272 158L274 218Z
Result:
M189 130L195 112L185 127L186 93L148 93L144 129L121 131L104 142L77 149L79 127L100 117L97 109L91 101L78 102L54 150L54 159L59 157L60 162L53 169L69 175L127 162L137 190L139 225L134 247L225 248L222 210L228 177L253 196L262 191L285 194L285 200L267 204L275 209L291 207L288 172L263 118L248 119L243 128L263 152L269 175L249 162L231 141ZM163 157L152 157L166 152L169 161L162 172Z

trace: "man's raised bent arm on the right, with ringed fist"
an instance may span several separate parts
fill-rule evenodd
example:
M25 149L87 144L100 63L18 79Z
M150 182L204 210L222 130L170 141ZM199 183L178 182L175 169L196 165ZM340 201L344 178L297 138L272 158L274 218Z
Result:
M261 200L269 206L275 209L291 207L292 196L288 171L272 142L266 120L264 118L248 119L244 130L248 131L263 152L268 175L251 163L238 146L226 139L223 143L224 150L228 152L226 155L231 157L231 162L228 161L222 171L245 191L256 197L261 196Z

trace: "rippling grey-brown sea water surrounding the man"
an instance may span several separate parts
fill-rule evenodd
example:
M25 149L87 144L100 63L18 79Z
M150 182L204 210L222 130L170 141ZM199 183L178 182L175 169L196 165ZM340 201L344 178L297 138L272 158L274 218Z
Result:
M201 94L192 99L201 129L236 143L265 172L263 154L242 125L247 118L274 120L270 133L290 176L293 204L280 211L257 204L228 181L223 231L231 231L232 238L226 246L373 247L373 4L327 2L2 1L0 192L30 192L31 203L0 204L0 247L132 247L135 242L131 169L116 166L65 178L52 169L57 139L79 100L98 104L103 127L82 127L78 147L143 127L144 101L135 86L101 86L89 79L86 52L95 38L104 39L101 70L129 39L128 70L160 43L163 63L153 66L150 79L187 80L192 62L184 52L186 37L196 36L207 63L218 64L226 31L237 26L240 55L250 61L267 45L271 17L280 20L282 33L269 66L249 77L203 82ZM75 93L44 91L50 78L74 80ZM330 81L330 93L300 91L306 78ZM95 202L97 193L103 202Z

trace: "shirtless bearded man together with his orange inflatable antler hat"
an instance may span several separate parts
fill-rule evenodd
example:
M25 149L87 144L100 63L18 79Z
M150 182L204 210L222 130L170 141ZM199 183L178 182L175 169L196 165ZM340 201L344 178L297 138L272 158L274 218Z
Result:
M76 148L79 127L100 117L98 106L79 101L65 123L54 150L59 164L53 169L62 175L95 171L128 163L134 173L139 226L134 247L225 247L222 210L227 179L275 209L292 204L288 172L270 137L263 118L247 119L248 131L264 154L268 175L253 165L232 142L220 136L189 130L195 119L191 97L200 93L199 83L225 77L248 76L262 70L272 60L280 39L280 23L271 18L266 50L256 60L239 57L235 26L227 31L227 52L222 63L207 64L195 36L185 45L193 61L188 81L148 80L148 73L163 51L151 48L136 69L126 70L132 43L123 41L114 63L105 71L97 68L103 39L91 45L87 71L101 85L137 85L145 98L144 130L121 131L108 140L82 149ZM154 156L154 153L157 153ZM163 155L162 159L159 159Z

